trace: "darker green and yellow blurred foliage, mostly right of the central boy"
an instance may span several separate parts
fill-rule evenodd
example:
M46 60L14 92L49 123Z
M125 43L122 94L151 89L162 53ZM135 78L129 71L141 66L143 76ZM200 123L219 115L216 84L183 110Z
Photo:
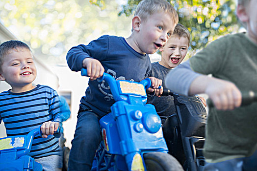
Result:
M97 3L100 0L95 0ZM101 0L103 1L103 0ZM128 0L122 5L119 16L133 15L141 0ZM235 15L234 0L167 0L179 14L179 22L191 33L191 45L188 56L191 56L207 43L228 33L237 32L240 28ZM98 5L97 3L94 3Z

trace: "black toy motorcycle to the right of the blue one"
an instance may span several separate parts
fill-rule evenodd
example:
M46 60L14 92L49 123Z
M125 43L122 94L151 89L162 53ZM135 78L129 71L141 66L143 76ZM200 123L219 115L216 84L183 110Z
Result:
M205 126L207 111L197 96L182 96L164 89L162 96L172 95L177 113L169 116L163 124L163 134L169 153L185 171L203 171L205 158ZM257 92L242 92L241 106L257 101ZM208 107L213 107L208 103Z

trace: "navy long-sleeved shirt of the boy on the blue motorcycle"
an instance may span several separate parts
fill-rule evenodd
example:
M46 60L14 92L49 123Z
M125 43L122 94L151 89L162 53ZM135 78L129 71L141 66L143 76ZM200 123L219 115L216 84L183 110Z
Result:
M82 69L85 58L94 58L101 62L104 72L116 80L132 80L139 82L147 77L151 70L149 56L136 52L123 37L104 35L88 45L80 44L72 47L67 53L67 63L71 70ZM100 117L110 111L114 103L108 84L104 81L90 81L86 95L81 103L91 108Z

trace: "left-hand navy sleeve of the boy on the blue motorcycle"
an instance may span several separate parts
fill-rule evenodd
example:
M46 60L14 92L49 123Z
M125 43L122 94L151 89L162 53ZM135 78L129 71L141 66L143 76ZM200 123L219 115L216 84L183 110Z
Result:
M83 67L83 60L85 58L94 58L102 61L106 58L108 51L108 36L102 36L97 40L90 42L88 45L80 44L72 47L66 56L68 66L73 71L80 71Z

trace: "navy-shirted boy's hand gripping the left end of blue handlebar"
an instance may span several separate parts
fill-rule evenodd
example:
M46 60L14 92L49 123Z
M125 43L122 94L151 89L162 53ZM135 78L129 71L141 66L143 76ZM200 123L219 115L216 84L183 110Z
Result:
M87 75L90 77L90 80L93 81L103 76L104 68L100 61L93 58L85 58L82 64L87 69Z

